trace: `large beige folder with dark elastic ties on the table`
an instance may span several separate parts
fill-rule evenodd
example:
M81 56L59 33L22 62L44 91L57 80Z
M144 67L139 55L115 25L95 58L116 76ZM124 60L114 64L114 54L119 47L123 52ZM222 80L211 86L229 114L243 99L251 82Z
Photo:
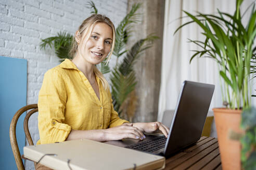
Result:
M24 147L24 157L53 169L163 169L165 158L93 140ZM69 161L68 161L69 160ZM68 163L69 162L69 163ZM69 167L70 166L70 167Z

